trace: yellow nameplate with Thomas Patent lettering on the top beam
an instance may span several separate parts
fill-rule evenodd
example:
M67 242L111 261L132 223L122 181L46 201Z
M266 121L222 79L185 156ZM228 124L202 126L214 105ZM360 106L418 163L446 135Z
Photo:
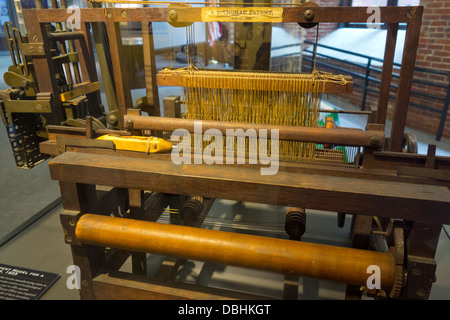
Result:
M202 8L204 22L283 22L283 8Z

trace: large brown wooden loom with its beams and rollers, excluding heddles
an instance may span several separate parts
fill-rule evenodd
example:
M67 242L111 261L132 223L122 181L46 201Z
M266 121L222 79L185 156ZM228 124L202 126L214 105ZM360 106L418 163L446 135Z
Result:
M226 8L230 9L228 6ZM265 10L270 11L270 8ZM120 127L119 131L115 131L116 134L126 136L131 133L141 134L146 130L173 131L177 128L193 132L194 119L176 117L179 114L177 99L167 100L166 117L160 117L156 81L158 84L162 81L184 86L183 81L186 80L174 74L161 73L156 76L151 23L208 21L212 19L208 10L208 6L80 10L82 32L87 43L91 43L88 32L91 26L106 25L107 50L112 59L114 75L111 80L114 83ZM203 132L208 128L221 132L237 128L276 128L280 139L288 141L357 146L363 148L364 153L360 167L281 163L276 175L263 177L259 174L259 166L249 164L178 166L171 161L170 154L116 150L109 141L95 140L105 130L94 130L89 121L86 128L76 130L59 126L58 121L49 123L49 140L41 143L41 151L56 156L50 161L49 167L52 179L58 180L61 187L64 207L61 223L65 241L71 246L74 264L82 270L81 298L262 298L175 282L173 275L183 259L280 272L286 275L286 298L298 294L296 285L292 284L293 276L297 281L295 277L309 276L346 283L346 297L358 298L361 296L360 287L366 285L367 266L377 264L383 275L382 287L380 290L368 290L369 294L384 294L386 298L428 298L432 286L430 280L436 269L434 255L437 240L442 225L450 223L450 160L435 156L433 148L429 149L428 155L400 152L423 8L382 7L380 10L382 22L388 24L385 59L377 112L366 130L330 130L220 119L202 121ZM286 5L276 7L273 12L276 19L267 18L268 22L292 22L303 26L323 22L365 23L368 18L366 8L363 7ZM65 22L68 16L63 9L24 10L30 42L43 42L46 48L48 37L42 26L51 22ZM223 13L214 19L228 21L225 19L230 19L230 16ZM125 57L117 27L120 22L131 21L142 22L149 116L142 116L139 109L130 108L133 103L126 81ZM399 23L406 23L407 33L389 147L383 150ZM92 63L92 47L88 46L87 50ZM52 88L52 77L46 75L46 72L52 75L51 57L33 56L33 62L36 70L41 70L37 73L40 90L56 92ZM242 75L236 81L243 81ZM280 81L285 80L283 78ZM280 84L280 87L285 85ZM348 86L332 82L324 82L320 88L331 92L348 89ZM59 96L54 98L53 108L56 110L61 102ZM173 117L167 117L168 114ZM292 215L288 215L290 218L286 221L286 230L290 230L289 240L199 228L214 199L295 208L289 211ZM179 210L184 226L157 222L159 215L168 206L171 210ZM340 218L345 214L353 215L353 248L299 241L305 228L304 209L332 211ZM376 227L373 227L374 221L379 222ZM370 250L371 236L378 240L381 236L387 249ZM280 254L281 248L287 254ZM149 278L147 252L174 255L179 259L169 260L162 265L158 279ZM118 271L130 255L132 273Z

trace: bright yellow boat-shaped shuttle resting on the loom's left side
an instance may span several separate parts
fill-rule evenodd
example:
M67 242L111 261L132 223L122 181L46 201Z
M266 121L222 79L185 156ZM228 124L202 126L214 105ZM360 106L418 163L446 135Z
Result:
M172 150L172 143L158 137L116 136L105 134L97 140L113 141L117 150L137 151L145 153L161 153Z

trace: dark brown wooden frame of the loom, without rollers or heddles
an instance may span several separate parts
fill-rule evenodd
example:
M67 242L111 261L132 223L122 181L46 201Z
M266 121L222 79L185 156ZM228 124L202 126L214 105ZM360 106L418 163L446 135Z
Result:
M306 19L305 11L314 11L313 19ZM177 8L178 22L200 22L201 8ZM146 31L152 22L170 21L169 8L89 8L81 9L82 32L88 39L90 59L82 63L82 69L88 72L87 66L94 62L92 41L90 39L89 23L103 22L106 24L109 38L109 51L114 65L114 84L116 98L119 109L120 125L124 116L128 113L127 108L132 106L131 94L126 81L126 72L123 66L123 54L121 52L120 30L118 23L129 21L141 21L144 39L144 50L149 53L148 45L151 36ZM397 38L398 24L406 23L407 32L404 44L403 64L400 72L400 79L395 103L395 115L391 130L391 151L401 151L403 132L406 122L406 114L409 104L410 89L414 72L416 50L420 34L420 26L423 8L422 7L381 7L381 21L388 24L385 45L385 60L383 65L382 80L380 85L380 97L378 102L378 112L376 123L384 125L387 114L388 92L392 77L392 67L394 59L395 44ZM29 32L30 42L48 41L44 32L43 24L49 22L65 22L71 13L66 9L31 9L24 10L26 27ZM302 24L314 23L339 23L339 22L366 22L369 17L367 8L352 7L286 7L283 8L283 22L295 22ZM147 47L146 47L147 45ZM148 57L151 58L151 57ZM38 83L41 92L56 92L56 84L52 77L51 56L47 52L44 56L33 58L38 75ZM151 67L151 59L146 60L146 65ZM151 70L151 68L150 68ZM50 72L50 74L49 74ZM49 76L50 75L50 76ZM155 75L146 70L148 91L154 90ZM90 79L93 81L93 79ZM150 94L151 96L151 94ZM57 100L57 99L56 99ZM56 101L56 106L58 106ZM155 111L154 116L158 116ZM56 115L57 119L61 115ZM85 130L86 136L95 136L89 128ZM48 144L43 144L46 148ZM97 213L109 214L111 210L129 201L132 218L141 219L143 217L143 203L145 201L144 191L147 188L160 188L165 182L164 191L178 190L182 193L195 193L203 196L221 196L224 198L235 198L238 200L263 201L278 205L290 204L299 188L302 192L307 192L309 197L297 199L296 204L306 208L315 207L318 209L335 210L356 214L353 243L356 247L365 247L368 222L372 221L371 215L384 214L387 218L402 218L408 221L415 221L410 229L407 241L407 264L405 268L410 271L412 268L421 267L421 275L408 273L408 282L403 290L403 297L406 298L427 298L431 290L430 278L434 275L435 262L434 255L437 247L442 223L448 223L448 201L445 200L445 188L448 182L437 181L435 179L397 176L395 173L399 164L404 166L425 167L436 170L438 168L448 169L450 167L448 159L434 157L430 153L426 157L404 156L395 152L374 152L368 149L366 167L368 170L357 169L336 169L336 168L314 168L308 166L283 165L283 174L275 178L274 181L259 181L255 179L257 171L245 171L238 168L226 168L221 166L208 167L208 172L188 172L193 169L202 171L201 168L186 168L187 171L180 171L176 168L168 168L170 159L165 155L157 155L158 161L148 159L148 155L137 155L130 152L120 152L110 149L95 148L92 146L71 147L65 146L63 154L50 161L49 167L53 179L59 180L61 195L63 200L64 213L61 214L61 222L65 232L65 240L71 245L74 263L79 265L83 272L81 274L82 288L80 295L85 299L93 298L255 298L255 296L239 295L236 293L217 291L209 289L205 293L205 288L196 286L180 287L180 284L173 282L155 283L147 278L139 276L145 273L145 255L141 253L131 253L133 274L123 274L114 270L118 269L123 261L130 255L130 252L117 252L109 261L104 261L101 257L104 249L83 245L78 242L74 230L77 220L83 214ZM78 153L79 156L77 155ZM83 155L87 154L87 155ZM153 164L154 167L149 166ZM147 169L145 169L145 168ZM148 170L148 168L153 168ZM379 170L383 168L383 170ZM74 169L79 171L74 171ZM257 169L257 168L256 168ZM247 172L243 176L244 172ZM252 176L253 173L253 176ZM307 174L305 174L307 173ZM231 175L230 175L231 174ZM231 179L230 176L236 174L239 179ZM329 180L329 178L331 180ZM168 179L168 180L167 180ZM320 186L308 181L321 182ZM353 186L351 191L342 185L343 181ZM295 181L294 183L292 183ZM369 183L368 183L369 182ZM368 184L367 184L368 183ZM392 185L408 185L411 194L407 197L390 195L386 188ZM367 185L366 185L367 184ZM108 191L103 197L98 197L97 186L107 185ZM364 192L360 190L362 185L376 186L376 190ZM215 186L211 189L211 186ZM266 187L272 188L273 192L266 197ZM399 185L397 185L399 186ZM279 189L277 189L277 187ZM256 189L255 189L256 188ZM229 190L230 192L227 192ZM255 191L256 190L256 191ZM278 190L278 191L277 191ZM279 191L283 196L277 196ZM425 190L424 197L420 196ZM437 195L436 199L427 198L428 191L443 192ZM317 192L319 191L319 192ZM380 202L379 191L383 191L382 197L386 202ZM448 193L448 189L447 189ZM330 198L332 201L325 202L323 198ZM344 200L343 198L344 197ZM400 199L400 202L397 200ZM410 199L412 202L408 201ZM414 200L416 199L416 200ZM347 201L347 202L346 202ZM378 203L383 203L386 211L379 211L375 208ZM401 203L401 205L399 205ZM363 207L358 207L362 204ZM418 204L418 205L417 205ZM417 206L416 206L417 205ZM401 209L397 211L397 209ZM409 210L411 209L411 210ZM433 214L426 214L428 211ZM436 220L436 218L438 220ZM369 224L370 227L370 224ZM425 243L432 243L430 247ZM107 268L106 273L101 271ZM171 269L173 270L173 269ZM170 273L170 272L169 272ZM167 274L167 273L166 273ZM167 279L167 277L165 277ZM351 288L350 288L351 289ZM349 289L350 295L351 290ZM355 288L353 288L355 289ZM359 291L359 288L357 288ZM112 295L112 292L115 295ZM420 293L420 294L419 294ZM356 296L358 294L355 294ZM259 297L256 297L259 298Z

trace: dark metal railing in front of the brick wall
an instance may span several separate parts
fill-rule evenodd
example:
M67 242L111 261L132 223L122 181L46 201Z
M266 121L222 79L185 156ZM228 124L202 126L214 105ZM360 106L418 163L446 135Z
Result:
M326 67L332 70L336 70L342 73L346 73L349 74L353 77L362 79L362 83L360 84L358 82L354 82L354 86L355 87L359 87L361 88L362 91L362 101L361 101L361 110L365 110L366 108L366 104L367 104L367 95L368 93L374 93L374 94L379 94L379 89L377 88L377 86L371 86L372 83L376 83L376 84L380 84L381 80L379 78L376 78L373 76L373 72L378 72L381 74L381 67L376 67L373 65L373 62L379 62L379 63L383 63L383 59L380 58L375 58L375 57L371 57L371 56L367 56L364 54L359 54L359 53L355 53L355 52L351 52L348 50L344 50L344 49L339 49L339 48L335 48L335 47L331 47L331 46L327 46L327 45L323 45L323 44L317 44L317 48L325 48L325 49L329 49L329 50L333 50L335 52L339 52L339 53L343 53L343 54L347 54L347 55L351 55L353 57L358 57L358 58L362 58L365 59L367 61L367 63L357 63L357 62L352 62L352 61L348 61L348 60L344 60L344 59L339 59L335 56L332 55L327 55L321 52L314 52L315 50L315 42L312 41L304 41L304 44L306 45L311 45L310 47L306 47L303 48L303 53L310 53L311 55L305 55L303 54L303 68L312 70L314 67L314 54L316 54L316 57L319 58L325 58L328 59L329 62L333 62L333 63L329 63L329 62L325 62L322 61L321 59L316 59L316 66L317 67ZM296 46L298 46L299 44L295 44ZM294 46L294 45L293 45ZM275 48L274 48L275 49ZM310 64L305 63L306 62L310 62ZM336 64L334 64L334 62L336 62ZM350 65L350 66L354 66L354 67L358 67L361 68L361 72L358 71L352 71L349 70L347 68L343 68L342 65L343 63ZM340 64L340 65L339 65ZM394 63L394 68L399 69L401 67L401 64L399 63ZM422 67L416 67L415 72L421 72L421 73L425 73L425 74L434 74L434 75L439 75L439 76L444 76L447 77L447 81L445 84L443 84L442 82L432 82L432 81L428 81L428 80L422 80L419 78L414 78L413 79L413 84L420 84L420 85L427 85L429 87L434 87L439 89L445 89L446 90L446 95L445 97L439 96L439 95L433 95L429 92L423 92L423 91L418 91L415 90L413 88L413 90L411 91L411 95L418 97L420 100L422 100L423 98L427 98L427 99L433 99L433 100L437 100L440 103L442 103L442 109L438 109L435 107L430 107L429 105L426 104L422 104L422 103L418 103L418 102L414 102L414 101L410 101L410 105L417 107L417 108L421 108L421 109L425 109L425 110L429 110L432 112L436 112L436 113L440 113L440 121L439 121L439 127L436 133L436 140L441 140L442 137L442 132L444 130L444 126L445 126L445 120L447 117L447 113L448 113L448 109L449 109L449 105L450 105L450 71L443 71L443 70L436 70L436 69L429 69L429 68L422 68ZM392 77L393 78L399 78L399 73L393 73ZM396 83L391 83L391 88L393 89L397 89L397 84ZM430 90L429 90L430 91ZM395 99L395 95L394 94L390 94L389 95L390 98Z

